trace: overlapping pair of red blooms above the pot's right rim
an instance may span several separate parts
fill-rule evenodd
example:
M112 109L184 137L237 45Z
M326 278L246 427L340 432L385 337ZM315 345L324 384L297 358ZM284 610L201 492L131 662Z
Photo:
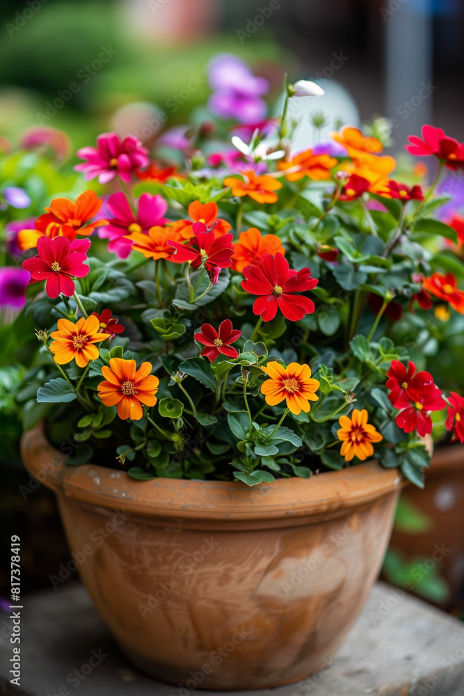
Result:
M387 377L388 398L394 408L399 409L395 421L398 427L406 433L417 430L421 437L429 435L432 432L430 413L446 406L430 372L416 372L414 363L409 361L406 368L399 360L394 360Z

